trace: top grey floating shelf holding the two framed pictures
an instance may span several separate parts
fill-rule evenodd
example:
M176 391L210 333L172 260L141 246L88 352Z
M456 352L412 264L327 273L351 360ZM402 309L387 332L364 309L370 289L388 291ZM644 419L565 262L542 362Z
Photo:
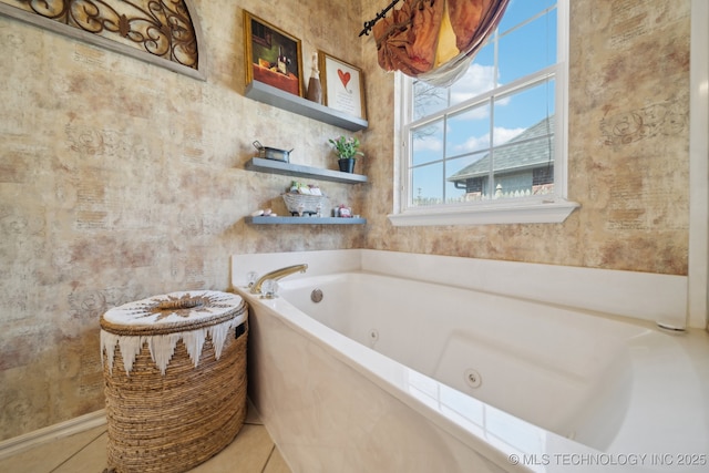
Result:
M251 81L250 84L246 85L245 95L258 102L267 103L269 105L287 110L288 112L297 113L351 132L358 132L369 126L367 120L320 105L319 103L284 92L280 89L276 89L263 82Z

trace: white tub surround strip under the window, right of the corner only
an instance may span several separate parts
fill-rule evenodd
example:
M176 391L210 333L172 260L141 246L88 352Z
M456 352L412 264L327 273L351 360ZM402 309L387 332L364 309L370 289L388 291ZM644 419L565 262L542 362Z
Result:
M687 313L685 276L371 249L361 250L361 261L366 271L640 320Z

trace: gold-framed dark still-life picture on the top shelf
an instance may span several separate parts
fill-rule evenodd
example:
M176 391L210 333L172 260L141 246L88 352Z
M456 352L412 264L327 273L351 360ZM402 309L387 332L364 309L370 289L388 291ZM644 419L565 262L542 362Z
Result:
M246 84L258 81L302 96L300 40L246 10L244 32Z

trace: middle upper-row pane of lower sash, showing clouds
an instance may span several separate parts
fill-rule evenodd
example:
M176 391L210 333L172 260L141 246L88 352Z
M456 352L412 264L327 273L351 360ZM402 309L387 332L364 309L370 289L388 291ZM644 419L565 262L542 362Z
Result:
M487 148L490 148L490 105L467 109L448 117L446 156L460 156Z

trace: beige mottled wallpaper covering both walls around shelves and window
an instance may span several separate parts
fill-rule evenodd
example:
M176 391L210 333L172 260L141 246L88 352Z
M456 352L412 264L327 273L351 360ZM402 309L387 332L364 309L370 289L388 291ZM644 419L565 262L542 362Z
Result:
M99 316L228 285L228 255L369 247L687 273L689 0L573 0L569 196L559 225L393 228L393 80L374 0L193 2L206 82L0 17L0 440L103 407ZM370 183L319 183L366 227L253 227L287 176L256 138L335 168L342 130L244 97L242 9L366 72ZM677 117L661 121L674 111ZM662 115L664 116L664 115ZM618 135L643 119L641 132Z

